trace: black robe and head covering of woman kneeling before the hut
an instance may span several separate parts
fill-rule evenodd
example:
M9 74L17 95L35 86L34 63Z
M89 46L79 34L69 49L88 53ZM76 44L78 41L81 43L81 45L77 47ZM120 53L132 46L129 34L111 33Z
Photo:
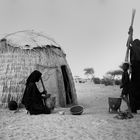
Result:
M27 79L26 88L22 98L22 104L30 112L30 114L49 114L50 109L43 104L42 94L36 86L41 78L41 73L37 70L32 72Z

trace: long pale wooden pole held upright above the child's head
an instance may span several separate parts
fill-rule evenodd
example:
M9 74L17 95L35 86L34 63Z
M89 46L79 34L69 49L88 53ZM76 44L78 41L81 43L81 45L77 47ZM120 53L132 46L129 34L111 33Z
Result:
M135 17L135 13L136 13L136 10L133 9L132 10L132 17L131 17L131 25L130 25L130 28L133 28L133 23L134 23L134 17ZM130 45L130 42L132 41L132 36L133 36L133 33L131 32L128 36L128 40L127 40L127 50L126 50L126 55L125 55L125 62L128 62L128 58L129 58L129 45Z

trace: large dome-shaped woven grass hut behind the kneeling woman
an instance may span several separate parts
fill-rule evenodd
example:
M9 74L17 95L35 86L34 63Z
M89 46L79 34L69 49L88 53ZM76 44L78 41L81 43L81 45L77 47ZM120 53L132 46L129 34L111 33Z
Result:
M66 54L55 41L34 31L19 31L0 41L0 104L11 100L21 103L27 77L42 72L48 94L56 105L77 104L74 80ZM43 90L38 83L39 90Z

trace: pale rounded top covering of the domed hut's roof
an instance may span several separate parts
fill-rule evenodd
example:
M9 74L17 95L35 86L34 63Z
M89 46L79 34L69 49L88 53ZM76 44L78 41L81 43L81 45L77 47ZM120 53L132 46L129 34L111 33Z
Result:
M6 39L6 42L11 46L20 47L21 49L33 49L47 45L60 48L60 45L52 38L33 30L11 33L6 35L3 39Z

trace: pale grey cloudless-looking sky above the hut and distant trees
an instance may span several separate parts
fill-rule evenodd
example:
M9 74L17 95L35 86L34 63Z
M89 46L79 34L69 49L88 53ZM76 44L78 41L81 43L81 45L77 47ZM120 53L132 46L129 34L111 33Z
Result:
M92 67L102 77L124 61L133 8L140 38L139 0L0 0L0 35L44 32L67 54L73 76Z

